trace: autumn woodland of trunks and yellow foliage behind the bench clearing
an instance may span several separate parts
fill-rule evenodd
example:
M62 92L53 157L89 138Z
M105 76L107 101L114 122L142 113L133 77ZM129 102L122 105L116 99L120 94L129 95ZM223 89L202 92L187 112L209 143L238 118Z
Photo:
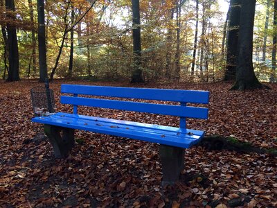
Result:
M265 87L258 78L276 81L277 2L259 3L266 12L257 17L256 1L231 0L220 21L216 0L0 0L0 73L8 81L226 80L232 89ZM254 25L264 32L253 39Z

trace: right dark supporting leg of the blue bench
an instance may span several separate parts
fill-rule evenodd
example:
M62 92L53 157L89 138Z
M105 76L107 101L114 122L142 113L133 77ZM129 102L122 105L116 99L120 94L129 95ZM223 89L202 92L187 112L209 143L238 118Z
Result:
M162 185L175 184L184 169L184 148L161 144L160 159L163 171Z

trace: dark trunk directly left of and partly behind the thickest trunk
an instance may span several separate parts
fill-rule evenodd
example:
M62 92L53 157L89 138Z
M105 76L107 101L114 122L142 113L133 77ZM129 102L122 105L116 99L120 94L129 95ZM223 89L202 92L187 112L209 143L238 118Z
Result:
M230 1L229 35L227 40L226 71L224 80L235 80L235 69L238 56L238 33L240 28L240 10L242 0Z

